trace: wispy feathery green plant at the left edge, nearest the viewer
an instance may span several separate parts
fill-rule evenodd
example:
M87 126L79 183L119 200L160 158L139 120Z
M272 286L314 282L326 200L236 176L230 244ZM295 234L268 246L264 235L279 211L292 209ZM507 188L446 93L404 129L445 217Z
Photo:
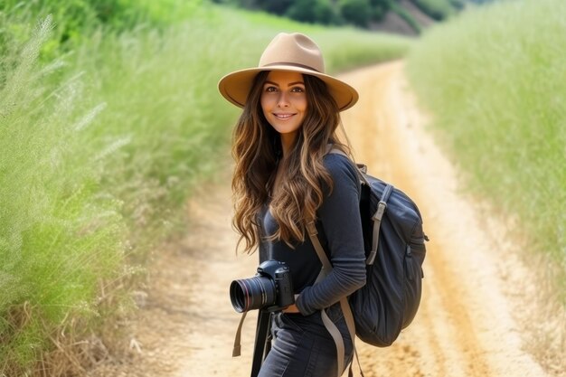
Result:
M95 117L80 78L48 83L37 26L0 88L0 360L26 365L70 314L90 316L99 278L122 262L120 203L99 193L81 135ZM14 51L17 50L14 47ZM86 112L86 115L85 115ZM98 166L99 165L99 166ZM22 372L22 371L20 371Z

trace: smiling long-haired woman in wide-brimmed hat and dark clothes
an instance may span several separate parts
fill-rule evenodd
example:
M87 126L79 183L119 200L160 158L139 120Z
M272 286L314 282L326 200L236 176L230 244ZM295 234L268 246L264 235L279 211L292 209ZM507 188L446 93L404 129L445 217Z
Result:
M360 184L336 129L340 111L352 107L358 95L324 72L315 42L304 34L279 33L259 67L219 82L222 96L243 108L232 146L234 228L246 252L259 249L259 262L288 264L296 297L294 305L272 316L274 342L259 376L336 376L352 359L337 303L365 284ZM342 153L328 154L329 146ZM334 268L319 279L321 262L307 237L313 221ZM344 365L337 361L322 310L342 335Z

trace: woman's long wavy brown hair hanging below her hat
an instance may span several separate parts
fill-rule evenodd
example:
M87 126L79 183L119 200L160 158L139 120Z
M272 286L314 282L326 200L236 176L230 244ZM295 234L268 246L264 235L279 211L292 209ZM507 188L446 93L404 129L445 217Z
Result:
M261 71L256 76L232 139L232 225L241 236L238 246L245 241L244 252L248 253L259 246L259 212L266 203L278 223L278 231L267 240L283 240L291 248L304 241L306 225L316 221L316 210L323 202L323 186L329 190L333 187L323 165L327 146L332 144L350 154L347 138L342 143L336 135L341 125L340 113L325 82L303 75L307 114L288 158L282 160L280 136L264 117L260 104L268 74L269 71ZM283 175L275 191L279 163L284 164Z

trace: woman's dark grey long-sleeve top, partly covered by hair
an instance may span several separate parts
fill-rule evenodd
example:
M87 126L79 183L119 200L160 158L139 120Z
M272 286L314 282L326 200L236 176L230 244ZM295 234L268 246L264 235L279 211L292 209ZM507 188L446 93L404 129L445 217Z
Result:
M324 188L325 199L317 211L316 228L333 270L319 283L316 277L322 264L307 238L295 250L283 241L263 240L259 262L274 259L288 264L297 298L297 308L304 316L332 306L365 284L365 255L360 218L360 183L354 164L345 156L328 154L323 161L332 176L332 193ZM260 214L264 234L273 234L277 222L267 205Z

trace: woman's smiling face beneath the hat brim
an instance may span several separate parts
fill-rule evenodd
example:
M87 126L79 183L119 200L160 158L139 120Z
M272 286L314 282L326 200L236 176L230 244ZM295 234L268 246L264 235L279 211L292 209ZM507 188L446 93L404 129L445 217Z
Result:
M270 71L261 91L261 108L269 124L283 139L294 140L307 115L303 75Z

